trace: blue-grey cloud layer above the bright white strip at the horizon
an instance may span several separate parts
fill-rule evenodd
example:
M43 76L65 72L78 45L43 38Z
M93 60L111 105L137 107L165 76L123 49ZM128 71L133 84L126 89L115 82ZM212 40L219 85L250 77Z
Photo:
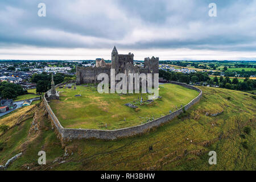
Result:
M40 2L47 5L46 18L37 16ZM0 46L109 48L116 44L138 49L256 51L256 1L216 0L216 18L208 16L211 2L1 1ZM135 30L148 30L148 36ZM159 31L152 36L151 30ZM175 36L179 32L183 35Z

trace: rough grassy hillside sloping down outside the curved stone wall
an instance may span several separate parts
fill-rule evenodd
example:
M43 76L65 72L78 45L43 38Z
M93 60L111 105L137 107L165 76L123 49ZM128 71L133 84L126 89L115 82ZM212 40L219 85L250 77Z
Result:
M114 141L74 140L67 146L61 146L44 106L37 104L34 119L0 136L0 165L22 151L8 170L255 170L255 100L245 92L200 89L198 104L150 133ZM216 113L221 114L209 115ZM37 163L40 150L46 151L44 166ZM212 150L217 165L210 166Z

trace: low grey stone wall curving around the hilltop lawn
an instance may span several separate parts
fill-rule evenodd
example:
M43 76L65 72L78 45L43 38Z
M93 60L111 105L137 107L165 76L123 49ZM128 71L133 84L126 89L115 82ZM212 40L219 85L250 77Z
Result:
M191 85L183 84L180 82L175 82L175 81L171 81L170 83L181 85L181 86L184 86L185 88L193 89L200 93L199 96L197 96L191 102L189 102L187 105L184 106L185 110L188 110L189 107L196 104L196 102L198 102L202 97L203 92L199 88L196 88ZM64 85L64 84L58 84L55 86L55 88L61 85ZM179 110L174 111L171 114L165 115L163 117L144 123L142 125L127 127L127 128L118 129L118 130L65 129L63 126L61 126L56 115L53 113L51 107L48 105L45 95L43 98L43 102L44 102L44 105L46 106L49 117L51 118L52 123L56 127L57 132L59 133L61 139L67 140L67 141L72 139L93 139L93 138L104 139L104 140L114 140L122 137L131 137L134 135L143 134L149 131L150 129L152 129L153 127L158 127L162 123L169 122L175 117L177 117L177 115L183 113L183 110L181 108Z

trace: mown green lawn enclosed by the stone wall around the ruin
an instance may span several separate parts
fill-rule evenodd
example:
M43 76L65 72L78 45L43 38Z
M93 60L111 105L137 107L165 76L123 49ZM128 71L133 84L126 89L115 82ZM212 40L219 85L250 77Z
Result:
M77 86L76 90L59 91L60 100L51 101L49 105L63 127L103 130L141 125L168 114L170 110L175 111L176 106L180 108L188 104L199 94L179 85L159 85L159 96L163 98L150 105L140 105L136 101L139 109L132 109L124 104L133 104L141 94L100 94L97 88L83 85ZM81 94L81 97L75 97L75 94ZM147 94L142 97L147 100Z

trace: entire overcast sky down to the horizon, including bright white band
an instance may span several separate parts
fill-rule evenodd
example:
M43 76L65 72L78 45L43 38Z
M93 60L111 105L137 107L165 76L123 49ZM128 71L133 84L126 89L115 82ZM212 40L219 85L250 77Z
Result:
M0 60L110 59L114 46L135 60L256 60L256 0L0 1Z

